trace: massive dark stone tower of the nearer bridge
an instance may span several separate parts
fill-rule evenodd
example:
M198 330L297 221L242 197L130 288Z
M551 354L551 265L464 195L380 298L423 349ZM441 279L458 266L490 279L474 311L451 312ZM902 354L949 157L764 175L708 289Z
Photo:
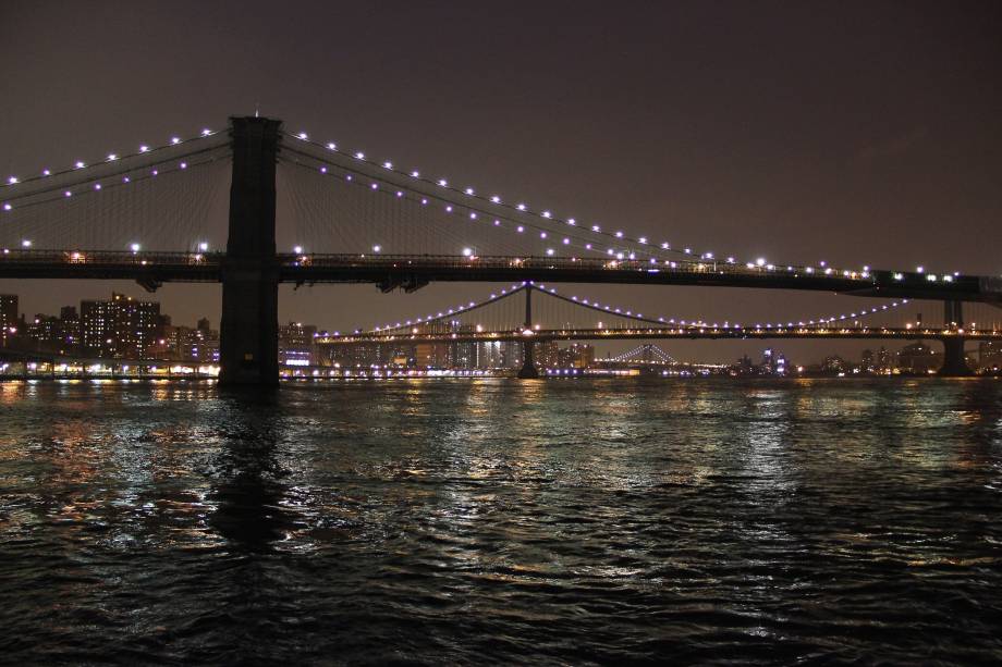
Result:
M233 178L222 267L220 376L224 385L279 382L279 267L274 169L281 121L231 118Z

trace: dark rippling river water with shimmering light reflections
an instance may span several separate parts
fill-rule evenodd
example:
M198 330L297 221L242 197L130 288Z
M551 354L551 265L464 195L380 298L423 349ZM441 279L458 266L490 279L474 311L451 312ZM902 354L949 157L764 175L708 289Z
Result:
M0 384L0 660L1002 659L1002 382Z

